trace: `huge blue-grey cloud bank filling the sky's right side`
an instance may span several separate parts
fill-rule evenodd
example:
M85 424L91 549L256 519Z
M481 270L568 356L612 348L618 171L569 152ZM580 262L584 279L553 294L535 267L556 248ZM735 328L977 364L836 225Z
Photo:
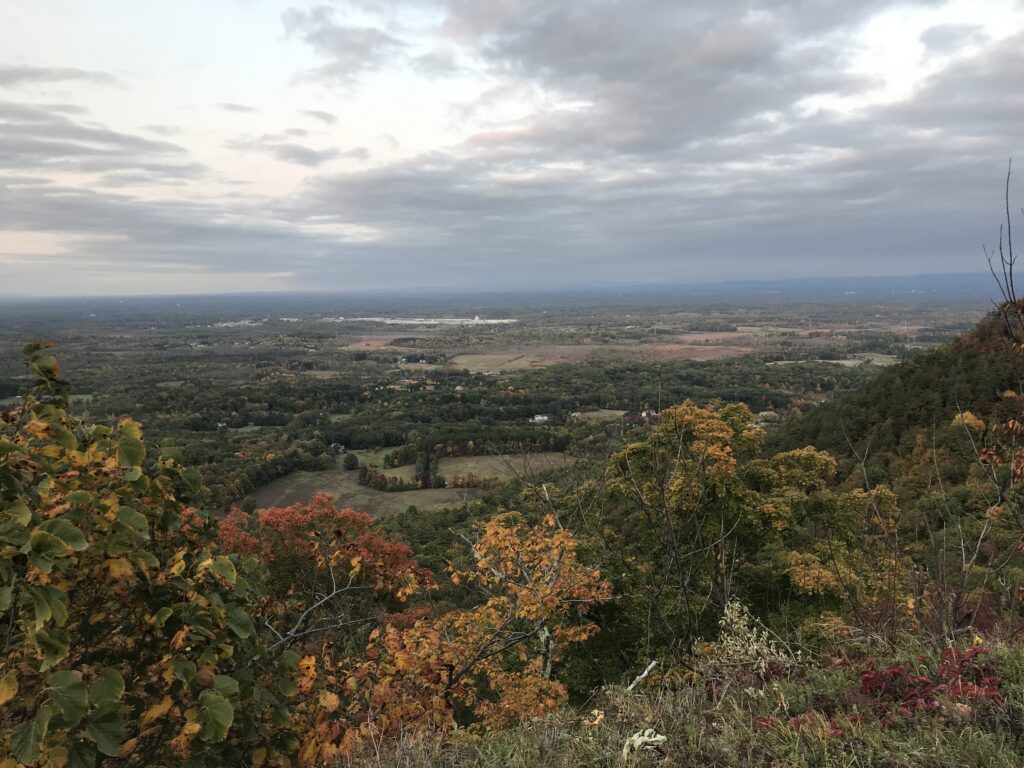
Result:
M692 29L694 4L642 5L456 4L447 33L504 87L540 83L579 105L312 180L290 215L386 232L382 258L404 252L455 284L983 268L1022 148L1024 35L845 116L803 99L876 85L831 48L865 17L850 4L746 16L707 3ZM955 51L975 34L926 38Z

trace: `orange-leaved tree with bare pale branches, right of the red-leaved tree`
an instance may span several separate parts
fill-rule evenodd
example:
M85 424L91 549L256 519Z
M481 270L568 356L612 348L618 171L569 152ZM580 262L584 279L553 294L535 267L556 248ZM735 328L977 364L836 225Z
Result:
M451 578L477 590L480 604L408 627L385 624L365 658L310 669L321 693L302 750L307 764L402 729L444 732L467 719L501 725L564 702L553 666L597 631L588 613L610 599L609 585L580 562L573 536L554 518L527 525L500 515L467 545L469 561Z

